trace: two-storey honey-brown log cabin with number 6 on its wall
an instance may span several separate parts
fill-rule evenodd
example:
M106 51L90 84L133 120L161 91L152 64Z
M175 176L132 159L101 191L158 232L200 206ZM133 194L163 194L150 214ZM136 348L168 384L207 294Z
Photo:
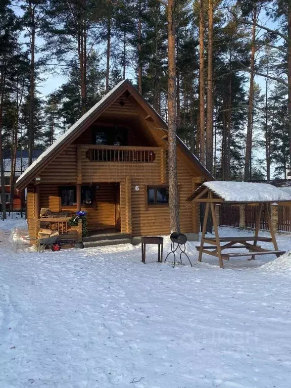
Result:
M214 178L177 138L181 232L198 239L197 204L186 199ZM129 80L118 83L19 177L27 188L31 241L40 227L80 240L58 214L83 210L92 235L132 238L169 234L167 124ZM40 209L55 218L40 218ZM44 225L43 222L46 222ZM79 234L78 234L79 233ZM76 237L76 236L75 236Z

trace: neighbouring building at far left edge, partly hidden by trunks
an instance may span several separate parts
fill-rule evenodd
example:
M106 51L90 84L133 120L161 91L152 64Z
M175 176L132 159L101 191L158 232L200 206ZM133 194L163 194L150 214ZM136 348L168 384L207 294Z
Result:
M33 150L32 158L36 160L39 155L43 152L43 150ZM10 199L11 199L11 150L3 151L4 157L4 174L5 174L5 202L6 209L10 210ZM16 167L15 167L15 179L19 178L19 176L27 169L28 167L28 151L27 150L18 150L16 152ZM0 181L1 187L1 181ZM2 193L0 193L0 208L2 209ZM13 196L13 210L20 211L25 209L25 196L21 194L21 191L18 189L14 189Z

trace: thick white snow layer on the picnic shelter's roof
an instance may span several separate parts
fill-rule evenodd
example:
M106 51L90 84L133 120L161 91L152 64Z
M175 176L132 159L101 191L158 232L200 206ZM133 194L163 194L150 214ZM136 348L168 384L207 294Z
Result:
M203 186L211 189L226 202L282 202L291 201L291 195L268 183L210 181Z

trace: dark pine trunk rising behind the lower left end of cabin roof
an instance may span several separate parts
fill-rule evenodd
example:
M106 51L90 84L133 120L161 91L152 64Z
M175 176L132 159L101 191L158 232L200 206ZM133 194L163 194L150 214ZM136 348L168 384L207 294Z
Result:
M35 6L29 2L31 35L30 35L30 91L29 91L29 129L28 129L28 165L32 163L32 151L34 142L34 72L35 72Z

